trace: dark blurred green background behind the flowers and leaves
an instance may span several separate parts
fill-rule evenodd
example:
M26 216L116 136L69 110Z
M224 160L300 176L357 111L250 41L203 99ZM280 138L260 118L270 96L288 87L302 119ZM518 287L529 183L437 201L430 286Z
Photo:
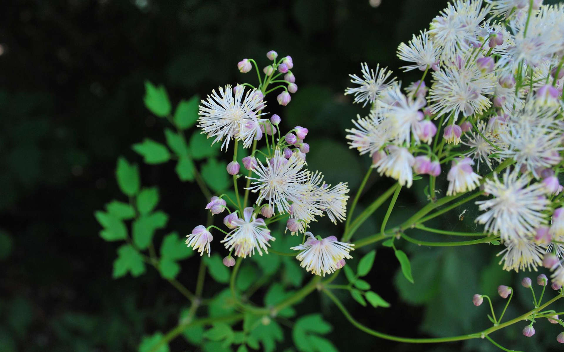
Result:
M163 84L175 105L227 83L254 83L253 72L236 69L244 57L266 65L268 50L291 55L299 90L286 108L268 101L268 111L282 117L283 130L308 127L310 168L324 171L330 182L348 181L355 190L369 160L347 149L344 130L365 112L343 96L347 75L358 73L363 61L396 70L397 44L427 28L445 5L442 0L3 2L0 351L134 351L144 335L173 328L186 308L186 299L155 270L112 279L118 244L99 237L93 216L120 197L114 171L124 155L140 164L143 185L159 186L169 230L184 236L205 221L206 199L195 184L180 182L174 164L143 165L130 148L144 137L163 141L165 122L143 105L146 79ZM396 73L404 82L420 74ZM360 208L389 185L373 175ZM422 186L402 191L390 225L424 202ZM433 226L468 231L475 228L476 214L474 207L462 206ZM376 233L382 216L375 214L355 237ZM338 235L342 226L325 219L314 230ZM393 251L381 246L367 277L391 308L366 309L339 293L360 322L378 331L414 337L479 331L490 323L486 308L472 305L472 295L491 295L500 309L504 302L496 296L497 285L520 287L522 275L504 273L497 265L499 247L399 246L411 259L415 284L397 274ZM178 279L187 287L194 286L198 262L196 257L182 262ZM204 294L222 288L208 278ZM263 294L259 290L255 296L259 304ZM316 292L295 308L298 316L321 311L333 326L329 338L342 351L496 350L485 340L442 345L379 340L352 327ZM506 317L528 309L530 296L517 289ZM539 322L536 335L526 338L523 326L492 337L519 350L558 347L558 327ZM276 350L292 347L290 329L284 334ZM195 350L182 337L170 348Z

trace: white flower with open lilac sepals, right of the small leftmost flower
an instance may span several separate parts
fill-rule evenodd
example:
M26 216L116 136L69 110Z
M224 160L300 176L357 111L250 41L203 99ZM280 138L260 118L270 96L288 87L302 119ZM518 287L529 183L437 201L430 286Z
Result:
M265 220L257 219L257 216L253 215L253 210L253 208L245 208L243 219L231 221L231 224L237 227L221 241L229 251L235 249L235 255L238 257L250 257L255 249L262 256L261 248L268 254L267 246L270 247L268 241L275 240L270 235L270 230L266 228Z

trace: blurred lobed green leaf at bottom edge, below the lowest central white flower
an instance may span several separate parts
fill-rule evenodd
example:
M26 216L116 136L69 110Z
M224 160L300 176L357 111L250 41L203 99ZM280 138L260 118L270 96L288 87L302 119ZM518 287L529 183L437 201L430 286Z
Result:
M321 318L320 314L304 315L299 318L294 324L292 330L292 338L298 351L301 352L316 352L322 351L318 349L319 341L311 336L314 333L325 335L331 331L331 325Z

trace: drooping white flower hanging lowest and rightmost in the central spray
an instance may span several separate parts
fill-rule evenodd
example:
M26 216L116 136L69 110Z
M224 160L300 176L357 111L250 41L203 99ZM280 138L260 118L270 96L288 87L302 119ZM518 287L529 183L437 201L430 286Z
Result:
M301 251L296 259L301 261L299 264L307 271L315 275L331 274L342 267L340 261L351 259L350 251L353 251L354 244L339 242L337 237L329 236L324 239L316 239L311 232L306 232L308 236L304 244L292 247L294 251Z

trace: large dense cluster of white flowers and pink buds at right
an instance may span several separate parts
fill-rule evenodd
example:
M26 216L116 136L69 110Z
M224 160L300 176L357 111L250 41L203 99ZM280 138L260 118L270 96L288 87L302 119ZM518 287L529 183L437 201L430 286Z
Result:
M475 221L505 245L504 269L544 264L564 285L564 5L455 0L397 54L422 78L402 92L387 68L362 64L345 95L370 111L347 130L350 148L402 186L430 175L431 199L443 164L447 196L483 184L489 199L477 202ZM501 163L513 166L478 174Z

